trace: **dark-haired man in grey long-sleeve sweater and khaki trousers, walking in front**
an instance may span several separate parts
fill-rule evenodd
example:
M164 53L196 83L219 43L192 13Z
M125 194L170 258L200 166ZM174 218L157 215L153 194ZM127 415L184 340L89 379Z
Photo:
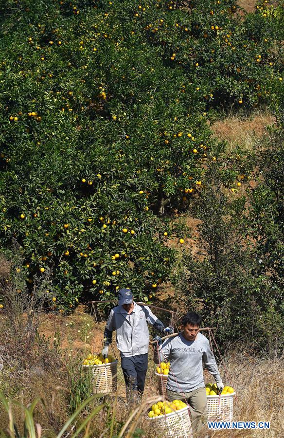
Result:
M198 313L188 312L181 321L182 331L176 337L161 345L157 336L154 340L160 344L159 355L155 349L154 361L171 363L167 382L167 398L186 400L192 414L192 428L196 437L202 423L207 421L207 399L202 364L214 376L217 388L224 388L208 339L199 332L201 317Z

